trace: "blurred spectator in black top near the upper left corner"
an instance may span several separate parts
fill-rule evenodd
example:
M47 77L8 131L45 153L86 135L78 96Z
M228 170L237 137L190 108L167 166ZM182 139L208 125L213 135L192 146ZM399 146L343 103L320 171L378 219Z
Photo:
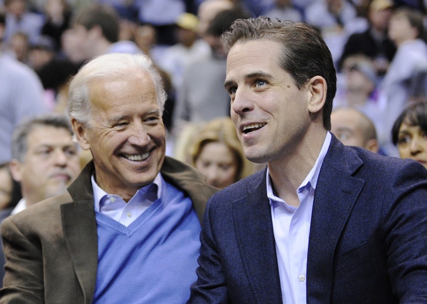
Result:
M46 0L42 35L49 36L54 40L55 51L59 51L61 36L68 28L70 15L71 12L66 0Z

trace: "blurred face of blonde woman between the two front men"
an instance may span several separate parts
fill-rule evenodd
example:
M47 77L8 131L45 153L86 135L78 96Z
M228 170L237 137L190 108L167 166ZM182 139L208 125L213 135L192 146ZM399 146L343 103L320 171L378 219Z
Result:
M217 188L225 188L237 178L237 160L223 142L206 143L196 160L196 168L206 176L208 185Z

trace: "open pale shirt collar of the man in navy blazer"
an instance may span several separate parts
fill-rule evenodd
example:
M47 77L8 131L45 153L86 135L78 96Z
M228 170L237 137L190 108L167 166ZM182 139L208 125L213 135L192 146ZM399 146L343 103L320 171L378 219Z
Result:
M331 139L332 139L331 133L326 132L326 138L325 138L325 141L323 141L323 145L322 145L322 148L320 149L320 153L316 159L315 165L310 170L309 174L306 176L306 178L301 183L301 185L298 187L297 189L298 192L303 188L307 187L308 185L310 185L314 189L316 188L317 179L319 178L320 168L323 164L323 160L325 159L326 153L328 152L329 145L331 144ZM271 180L270 180L270 171L268 167L267 167L267 196L270 199L270 201L271 200L277 201L280 199L273 192L273 188L271 186Z

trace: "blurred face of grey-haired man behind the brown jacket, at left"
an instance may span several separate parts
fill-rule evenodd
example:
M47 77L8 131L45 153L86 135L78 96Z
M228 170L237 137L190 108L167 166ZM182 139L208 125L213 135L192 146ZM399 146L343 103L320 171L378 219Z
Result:
M66 129L36 127L27 138L28 150L14 178L32 203L67 191L80 173L77 147Z

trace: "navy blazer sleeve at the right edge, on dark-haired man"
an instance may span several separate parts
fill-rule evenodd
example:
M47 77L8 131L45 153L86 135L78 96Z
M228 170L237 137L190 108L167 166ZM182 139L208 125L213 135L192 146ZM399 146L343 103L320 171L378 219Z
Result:
M393 179L382 212L384 249L400 303L427 303L427 172L409 162Z

